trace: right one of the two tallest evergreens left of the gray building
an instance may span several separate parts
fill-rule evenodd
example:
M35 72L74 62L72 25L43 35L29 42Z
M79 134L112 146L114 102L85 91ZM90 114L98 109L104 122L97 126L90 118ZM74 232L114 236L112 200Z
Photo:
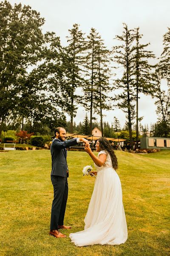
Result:
M142 35L139 34L139 28L135 29L135 41L136 46L133 47L135 50L134 53L134 68L133 74L134 87L136 90L136 148L139 147L139 122L143 117L139 118L139 93L151 94L153 92L153 76L152 68L153 66L148 63L149 58L154 58L153 52L145 49L149 44L140 44L140 39Z

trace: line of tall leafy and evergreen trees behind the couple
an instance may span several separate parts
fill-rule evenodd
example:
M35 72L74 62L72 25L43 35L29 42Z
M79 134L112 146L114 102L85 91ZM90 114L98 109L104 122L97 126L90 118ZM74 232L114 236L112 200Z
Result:
M170 125L170 28L153 65L156 56L148 50L149 43L141 43L139 28L123 24L122 35L116 35L108 49L96 29L85 35L74 24L64 47L54 32L42 33L44 23L30 6L0 3L0 134L6 125L25 125L30 133L53 131L67 124L65 113L73 132L82 105L90 113L89 134L97 114L104 136L103 110L120 108L126 113L133 148L132 126L138 143L142 120L141 93L156 99L159 123ZM161 89L162 79L167 92Z

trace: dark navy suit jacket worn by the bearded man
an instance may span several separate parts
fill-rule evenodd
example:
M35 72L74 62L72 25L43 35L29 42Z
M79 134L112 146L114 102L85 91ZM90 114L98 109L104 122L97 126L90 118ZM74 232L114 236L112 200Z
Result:
M59 139L54 139L51 144L51 159L52 170L51 175L68 177L67 166L67 150L66 148L77 145L77 138L61 142Z

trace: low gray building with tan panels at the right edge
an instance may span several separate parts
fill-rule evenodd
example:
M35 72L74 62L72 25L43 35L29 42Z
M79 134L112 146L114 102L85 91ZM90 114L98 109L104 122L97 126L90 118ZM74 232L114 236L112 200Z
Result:
M142 137L140 138L141 148L170 149L170 138Z

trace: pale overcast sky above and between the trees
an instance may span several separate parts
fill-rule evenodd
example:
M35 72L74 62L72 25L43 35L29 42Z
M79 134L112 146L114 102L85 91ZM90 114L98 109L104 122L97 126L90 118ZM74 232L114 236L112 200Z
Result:
M89 33L94 27L111 49L115 35L121 35L123 25L129 29L140 28L142 43L150 42L148 49L159 57L163 46L163 35L170 27L170 0L9 0L11 4L30 5L45 18L43 32L54 31L60 37L61 44L66 44L68 29L74 23L80 25L82 32ZM166 85L162 84L166 89ZM121 125L125 124L125 114L121 110L104 111L104 121L110 124L116 116ZM85 116L79 108L74 119L77 123ZM150 96L141 95L139 116L144 116L142 124L156 122L156 106ZM99 119L98 119L99 121Z

